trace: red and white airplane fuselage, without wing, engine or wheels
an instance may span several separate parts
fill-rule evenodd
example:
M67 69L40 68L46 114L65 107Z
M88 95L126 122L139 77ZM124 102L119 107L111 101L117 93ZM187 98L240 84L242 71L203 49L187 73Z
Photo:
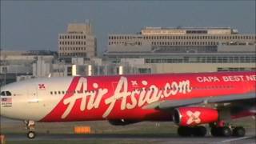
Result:
M158 102L255 92L255 72L34 78L2 87L1 115L38 122L171 121Z

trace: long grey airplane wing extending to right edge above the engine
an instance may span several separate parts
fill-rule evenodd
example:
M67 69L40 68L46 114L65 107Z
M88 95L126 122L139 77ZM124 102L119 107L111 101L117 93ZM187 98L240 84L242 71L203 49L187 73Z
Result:
M157 109L166 110L174 109L181 106L190 106L198 104L210 104L210 103L224 103L224 102L237 102L242 100L254 99L256 94L254 92L247 94L232 94L232 95L220 95L210 96L206 98L190 98L186 100L167 100L162 102L153 102L149 105L143 106L142 109Z

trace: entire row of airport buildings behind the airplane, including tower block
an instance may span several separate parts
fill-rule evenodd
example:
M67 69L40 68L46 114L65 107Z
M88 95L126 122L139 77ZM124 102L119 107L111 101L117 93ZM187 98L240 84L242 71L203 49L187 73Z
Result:
M1 51L0 79L6 84L48 76L251 71L255 38L230 28L147 27L140 34L110 34L105 58L96 58L90 25L70 24L67 34L59 34L58 54Z

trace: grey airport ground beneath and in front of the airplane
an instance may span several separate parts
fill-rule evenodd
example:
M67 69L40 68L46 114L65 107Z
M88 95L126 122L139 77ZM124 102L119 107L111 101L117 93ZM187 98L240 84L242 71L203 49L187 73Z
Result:
M251 123L252 121L244 120L243 123ZM254 120L253 120L254 122ZM10 119L1 118L1 130L4 132L6 136L6 140L11 143L20 143L31 141L32 143L39 142L64 142L64 143L185 143L185 144L201 144L201 143L236 143L236 144L256 144L256 131L254 125L251 127L247 126L246 136L242 138L236 137L212 137L210 134L207 134L206 137L198 138L198 137L179 137L176 132L173 133L164 133L162 130L169 130L170 122L162 122L160 128L152 126L152 122L142 122L141 124L134 124L134 126L110 126L108 122L61 122L61 123L38 123L36 131L38 134L34 139L26 138L26 130L23 129L22 122L13 121ZM98 128L103 131L102 134L56 134L54 131L50 131L46 133L46 130L56 130L58 128L62 128L60 130L56 130L55 132L71 132L74 126L80 125L88 125L93 128ZM97 126L98 125L98 126ZM152 131L147 131L150 129L146 129L141 133L138 133L138 130L143 130L143 128L151 127ZM106 131L108 129L113 129L112 132ZM134 130L133 130L134 129ZM173 126L170 126L170 129L174 129ZM7 131L10 130L10 131ZM123 130L133 130L130 133L123 134ZM6 132L5 132L6 131ZM11 132L14 131L14 132ZM136 133L137 132L137 133ZM135 134L136 133L136 134Z

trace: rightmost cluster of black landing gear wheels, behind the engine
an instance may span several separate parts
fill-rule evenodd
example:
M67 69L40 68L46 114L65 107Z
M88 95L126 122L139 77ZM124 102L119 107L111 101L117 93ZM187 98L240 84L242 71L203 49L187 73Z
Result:
M242 126L231 126L225 122L210 124L210 133L214 137L243 137L246 130Z

